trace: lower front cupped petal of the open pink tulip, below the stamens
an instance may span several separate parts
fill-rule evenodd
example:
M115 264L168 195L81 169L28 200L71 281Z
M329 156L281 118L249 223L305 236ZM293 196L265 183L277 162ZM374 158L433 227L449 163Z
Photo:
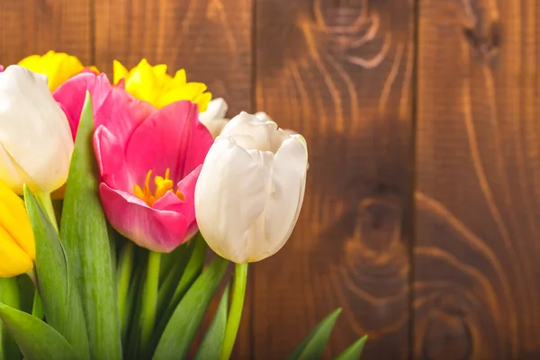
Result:
M152 209L136 196L104 183L99 190L112 227L140 247L170 252L190 235L192 229L182 213Z

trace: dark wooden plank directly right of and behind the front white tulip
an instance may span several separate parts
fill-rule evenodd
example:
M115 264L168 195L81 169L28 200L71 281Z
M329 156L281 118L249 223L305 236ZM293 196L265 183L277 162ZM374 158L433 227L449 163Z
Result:
M310 148L293 238L254 266L253 354L343 307L326 356L408 356L413 2L257 0L256 99Z

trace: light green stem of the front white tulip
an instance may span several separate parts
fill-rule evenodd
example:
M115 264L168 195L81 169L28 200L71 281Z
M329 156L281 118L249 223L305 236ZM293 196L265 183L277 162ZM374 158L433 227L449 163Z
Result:
M221 360L229 360L232 348L238 334L238 327L244 309L244 298L246 297L247 284L247 263L236 264L234 268L234 288L232 289L232 300L230 302L229 319L225 328L223 347L221 348Z

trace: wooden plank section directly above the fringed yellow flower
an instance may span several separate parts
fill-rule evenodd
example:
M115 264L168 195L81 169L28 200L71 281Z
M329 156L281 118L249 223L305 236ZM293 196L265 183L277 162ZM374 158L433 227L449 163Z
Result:
M251 109L252 0L95 0L97 64L127 67L141 58L185 68L188 81L206 83L231 114Z

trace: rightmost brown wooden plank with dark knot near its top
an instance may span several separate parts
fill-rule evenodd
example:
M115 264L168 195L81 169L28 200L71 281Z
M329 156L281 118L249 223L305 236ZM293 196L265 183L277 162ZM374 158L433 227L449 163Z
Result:
M417 357L540 356L538 16L420 1Z

